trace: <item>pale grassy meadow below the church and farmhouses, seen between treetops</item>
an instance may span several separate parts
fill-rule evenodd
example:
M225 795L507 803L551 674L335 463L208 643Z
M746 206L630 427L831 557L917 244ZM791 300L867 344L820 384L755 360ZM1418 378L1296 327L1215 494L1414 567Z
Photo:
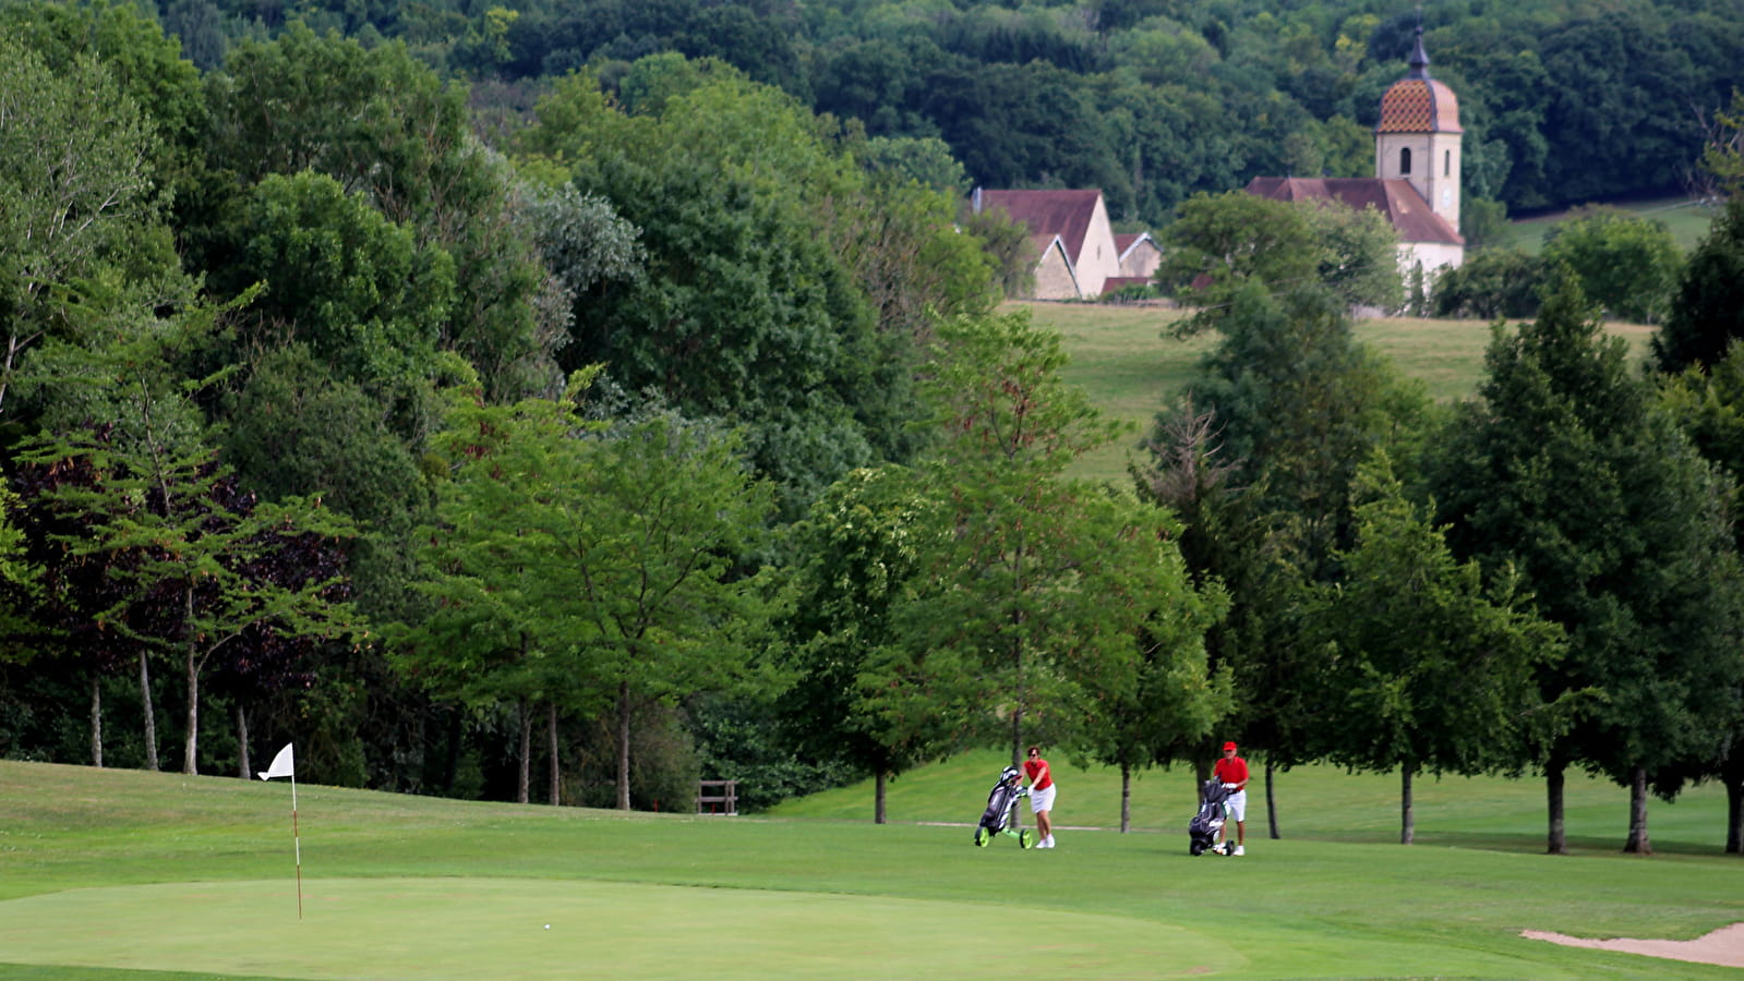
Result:
M1090 403L1109 416L1132 423L1130 437L1087 455L1071 474L1125 483L1127 462L1139 439L1156 411L1186 390L1216 336L1170 336L1170 326L1184 314L1167 307L1038 301L1012 303L1012 308L1025 308L1038 326L1059 331L1071 355L1066 380L1083 387ZM1646 357L1653 329L1606 324L1606 331L1629 342L1638 359ZM1400 375L1421 382L1432 399L1454 403L1477 394L1489 322L1378 317L1357 321L1355 336Z

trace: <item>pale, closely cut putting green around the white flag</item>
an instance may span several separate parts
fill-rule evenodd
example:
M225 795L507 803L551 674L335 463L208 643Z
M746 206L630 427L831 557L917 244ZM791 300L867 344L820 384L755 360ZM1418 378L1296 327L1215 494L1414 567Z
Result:
M549 923L549 929L546 929ZM1024 906L504 878L192 882L0 903L0 962L276 978L1172 978L1207 934ZM513 965L513 967L509 967Z

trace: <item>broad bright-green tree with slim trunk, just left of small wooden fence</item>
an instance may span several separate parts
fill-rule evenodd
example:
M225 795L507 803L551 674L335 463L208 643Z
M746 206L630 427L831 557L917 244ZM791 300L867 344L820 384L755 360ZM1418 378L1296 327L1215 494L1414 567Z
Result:
M452 462L427 591L455 650L413 631L413 662L445 685L487 667L488 692L586 711L610 706L617 807L630 807L631 721L732 678L762 584L738 563L769 518L767 488L731 434L668 413L600 430L563 403L462 401L438 444ZM476 626L474 626L476 624ZM424 664L433 667L420 667Z

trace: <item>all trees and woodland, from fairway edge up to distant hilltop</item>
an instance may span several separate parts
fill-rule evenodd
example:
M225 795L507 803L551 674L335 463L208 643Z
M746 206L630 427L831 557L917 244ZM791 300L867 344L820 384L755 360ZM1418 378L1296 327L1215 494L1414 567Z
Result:
M1739 850L1734 12L1423 12L1470 195L1716 197L1690 256L1606 211L1474 256L1460 305L1535 319L1449 408L1352 338L1385 223L1231 192L1367 173L1416 12L3 0L0 754L296 741L619 808L872 775L882 819L966 746L1235 735L1399 772L1406 840L1420 774L1542 775L1552 850L1570 767L1641 850L1720 779ZM975 183L1162 227L1216 343L1149 432L1001 307ZM1652 376L1599 329L1636 301ZM1113 441L1130 481L1066 476Z

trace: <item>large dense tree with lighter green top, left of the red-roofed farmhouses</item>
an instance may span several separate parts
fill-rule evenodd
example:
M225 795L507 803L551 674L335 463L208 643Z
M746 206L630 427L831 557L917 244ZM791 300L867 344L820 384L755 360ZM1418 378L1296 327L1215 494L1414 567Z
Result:
M893 455L914 409L888 397L903 382L888 366L912 364L914 342L881 333L835 249L832 216L853 214L863 173L792 98L724 66L649 59L630 82L637 115L577 75L525 134L647 249L645 275L577 305L563 361L602 362L631 392L741 427L797 516L841 474Z

